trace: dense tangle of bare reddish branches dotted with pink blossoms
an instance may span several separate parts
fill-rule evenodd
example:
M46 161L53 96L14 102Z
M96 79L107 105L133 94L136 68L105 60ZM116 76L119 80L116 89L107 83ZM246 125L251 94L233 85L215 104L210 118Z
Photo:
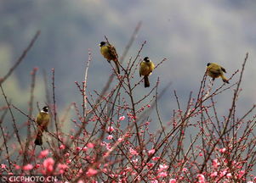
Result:
M139 26L120 59L121 64ZM121 68L121 75L113 72L101 92L87 89L88 67L93 59L89 52L84 81L81 84L76 82L81 103L71 103L64 116L60 116L56 108L58 101L54 92L53 69L52 97L47 96L54 129L46 132L46 143L41 149L35 147L31 140L35 138L37 128L32 116L37 69L31 73L28 112L9 102L11 97L4 92L2 85L4 81L8 82L7 77L1 80L6 103L0 108L0 175L58 175L62 182L79 183L256 181L253 176L256 164L253 133L255 105L241 118L236 116L236 103L248 54L241 71L234 73L240 75L239 80L233 82L235 84L224 83L213 89L213 81L202 73L199 90L196 95L191 92L185 108L181 108L184 105L180 105L179 93L174 91L178 107L170 112L172 118L169 121L162 121L158 101L170 83L159 91L158 78L154 86L145 90L145 95L136 94L143 80L135 80L134 75L138 75L139 55L144 46L145 42L134 58L125 59L128 64ZM164 65L165 60L156 64L156 69ZM233 80L234 75L229 80ZM216 98L233 89L228 114L220 117L215 106ZM14 110L28 118L26 137L20 135ZM76 117L70 120L66 116L71 111ZM151 118L153 111L157 115L154 120ZM8 112L13 121L14 134L4 127L8 122L5 120ZM63 130L65 123L72 123L73 126L68 133ZM153 124L159 125L160 129L151 131ZM15 147L10 147L12 143Z

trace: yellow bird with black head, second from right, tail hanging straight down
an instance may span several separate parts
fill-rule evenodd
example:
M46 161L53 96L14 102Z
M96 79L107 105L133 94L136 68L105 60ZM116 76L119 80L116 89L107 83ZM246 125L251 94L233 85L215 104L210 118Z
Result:
M155 69L154 63L150 58L145 57L142 62L139 64L139 76L144 75L144 86L150 86L149 75L151 75L153 69Z

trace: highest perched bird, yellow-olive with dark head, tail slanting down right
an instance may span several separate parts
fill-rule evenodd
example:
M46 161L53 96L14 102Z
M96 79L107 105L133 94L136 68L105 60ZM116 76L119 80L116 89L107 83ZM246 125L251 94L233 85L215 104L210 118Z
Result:
M111 62L111 60L114 61L116 65L117 73L120 74L119 61L118 61L116 48L107 42L100 42L100 53L103 55L104 58L106 58L106 60L109 63Z

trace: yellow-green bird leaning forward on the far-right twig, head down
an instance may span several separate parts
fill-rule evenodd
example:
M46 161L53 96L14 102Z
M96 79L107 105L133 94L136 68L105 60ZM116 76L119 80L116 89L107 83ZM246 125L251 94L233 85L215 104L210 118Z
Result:
M225 76L223 74L224 72L226 73L225 69L223 67L221 67L219 64L215 64L215 63L207 64L207 75L212 77L213 80L215 80L215 78L221 77L223 82L229 83L229 81L225 78Z

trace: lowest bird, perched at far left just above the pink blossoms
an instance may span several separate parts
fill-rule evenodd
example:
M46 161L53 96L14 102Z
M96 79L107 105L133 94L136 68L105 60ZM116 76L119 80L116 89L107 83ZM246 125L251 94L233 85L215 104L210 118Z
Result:
M48 114L48 107L45 106L40 111L40 113L37 114L37 119L36 119L38 127L37 127L37 137L35 140L35 144L38 146L42 146L43 144L43 140L42 140L43 131L47 130L49 120L50 120L50 115Z

